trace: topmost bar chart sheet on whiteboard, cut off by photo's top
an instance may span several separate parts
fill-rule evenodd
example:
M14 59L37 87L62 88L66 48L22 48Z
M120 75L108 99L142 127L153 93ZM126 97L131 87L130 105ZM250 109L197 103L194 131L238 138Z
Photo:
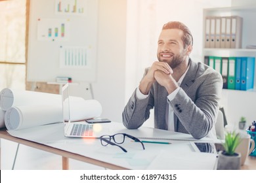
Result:
M86 3L85 0L55 0L55 13L83 15Z

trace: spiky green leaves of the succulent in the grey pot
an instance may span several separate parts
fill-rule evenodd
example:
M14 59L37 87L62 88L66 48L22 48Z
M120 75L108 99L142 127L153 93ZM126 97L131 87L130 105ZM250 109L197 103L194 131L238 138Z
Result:
M240 142L241 138L239 133L236 133L235 131L227 132L223 143L224 154L228 156L233 156Z

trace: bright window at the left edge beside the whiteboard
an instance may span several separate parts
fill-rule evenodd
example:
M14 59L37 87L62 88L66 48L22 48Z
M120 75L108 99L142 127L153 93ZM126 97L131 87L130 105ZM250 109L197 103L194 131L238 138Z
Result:
M26 0L0 1L0 90L26 86L27 7Z

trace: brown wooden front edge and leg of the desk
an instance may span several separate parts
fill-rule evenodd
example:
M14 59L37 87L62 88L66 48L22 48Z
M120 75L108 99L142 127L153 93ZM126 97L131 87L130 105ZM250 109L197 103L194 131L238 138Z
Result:
M53 147L47 146L45 144L39 144L37 142L32 142L32 141L20 139L20 138L17 138L17 137L12 137L6 131L6 129L0 129L0 139L5 139L5 140L8 140L8 141L17 142L17 143L20 143L20 144L24 144L25 146L30 146L32 148L37 148L39 150L44 150L46 152L51 152L53 154L57 154L59 156L62 156L62 169L63 170L68 169L68 165L69 165L68 158L83 161L85 163L91 163L93 165L98 165L100 167L105 167L107 169L125 170L125 168L114 165L114 164L111 164L111 163L106 163L106 162L99 161L99 160L96 160L96 159L81 156L79 154L74 154L72 152L68 152L68 151L65 151L65 150L60 150L58 148L53 148ZM1 160L1 154L0 154L0 160ZM1 165L1 163L0 163L0 165Z

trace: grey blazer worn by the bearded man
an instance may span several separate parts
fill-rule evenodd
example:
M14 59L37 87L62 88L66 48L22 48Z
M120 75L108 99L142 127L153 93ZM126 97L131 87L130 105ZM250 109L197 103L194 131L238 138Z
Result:
M195 139L206 135L216 137L215 120L223 88L221 74L190 59L190 67L180 87L173 101L167 99L167 91L158 82L154 82L146 99L137 99L135 90L123 110L125 127L139 128L154 108L154 127L167 130L165 111L168 103L174 110L175 131L190 133Z

